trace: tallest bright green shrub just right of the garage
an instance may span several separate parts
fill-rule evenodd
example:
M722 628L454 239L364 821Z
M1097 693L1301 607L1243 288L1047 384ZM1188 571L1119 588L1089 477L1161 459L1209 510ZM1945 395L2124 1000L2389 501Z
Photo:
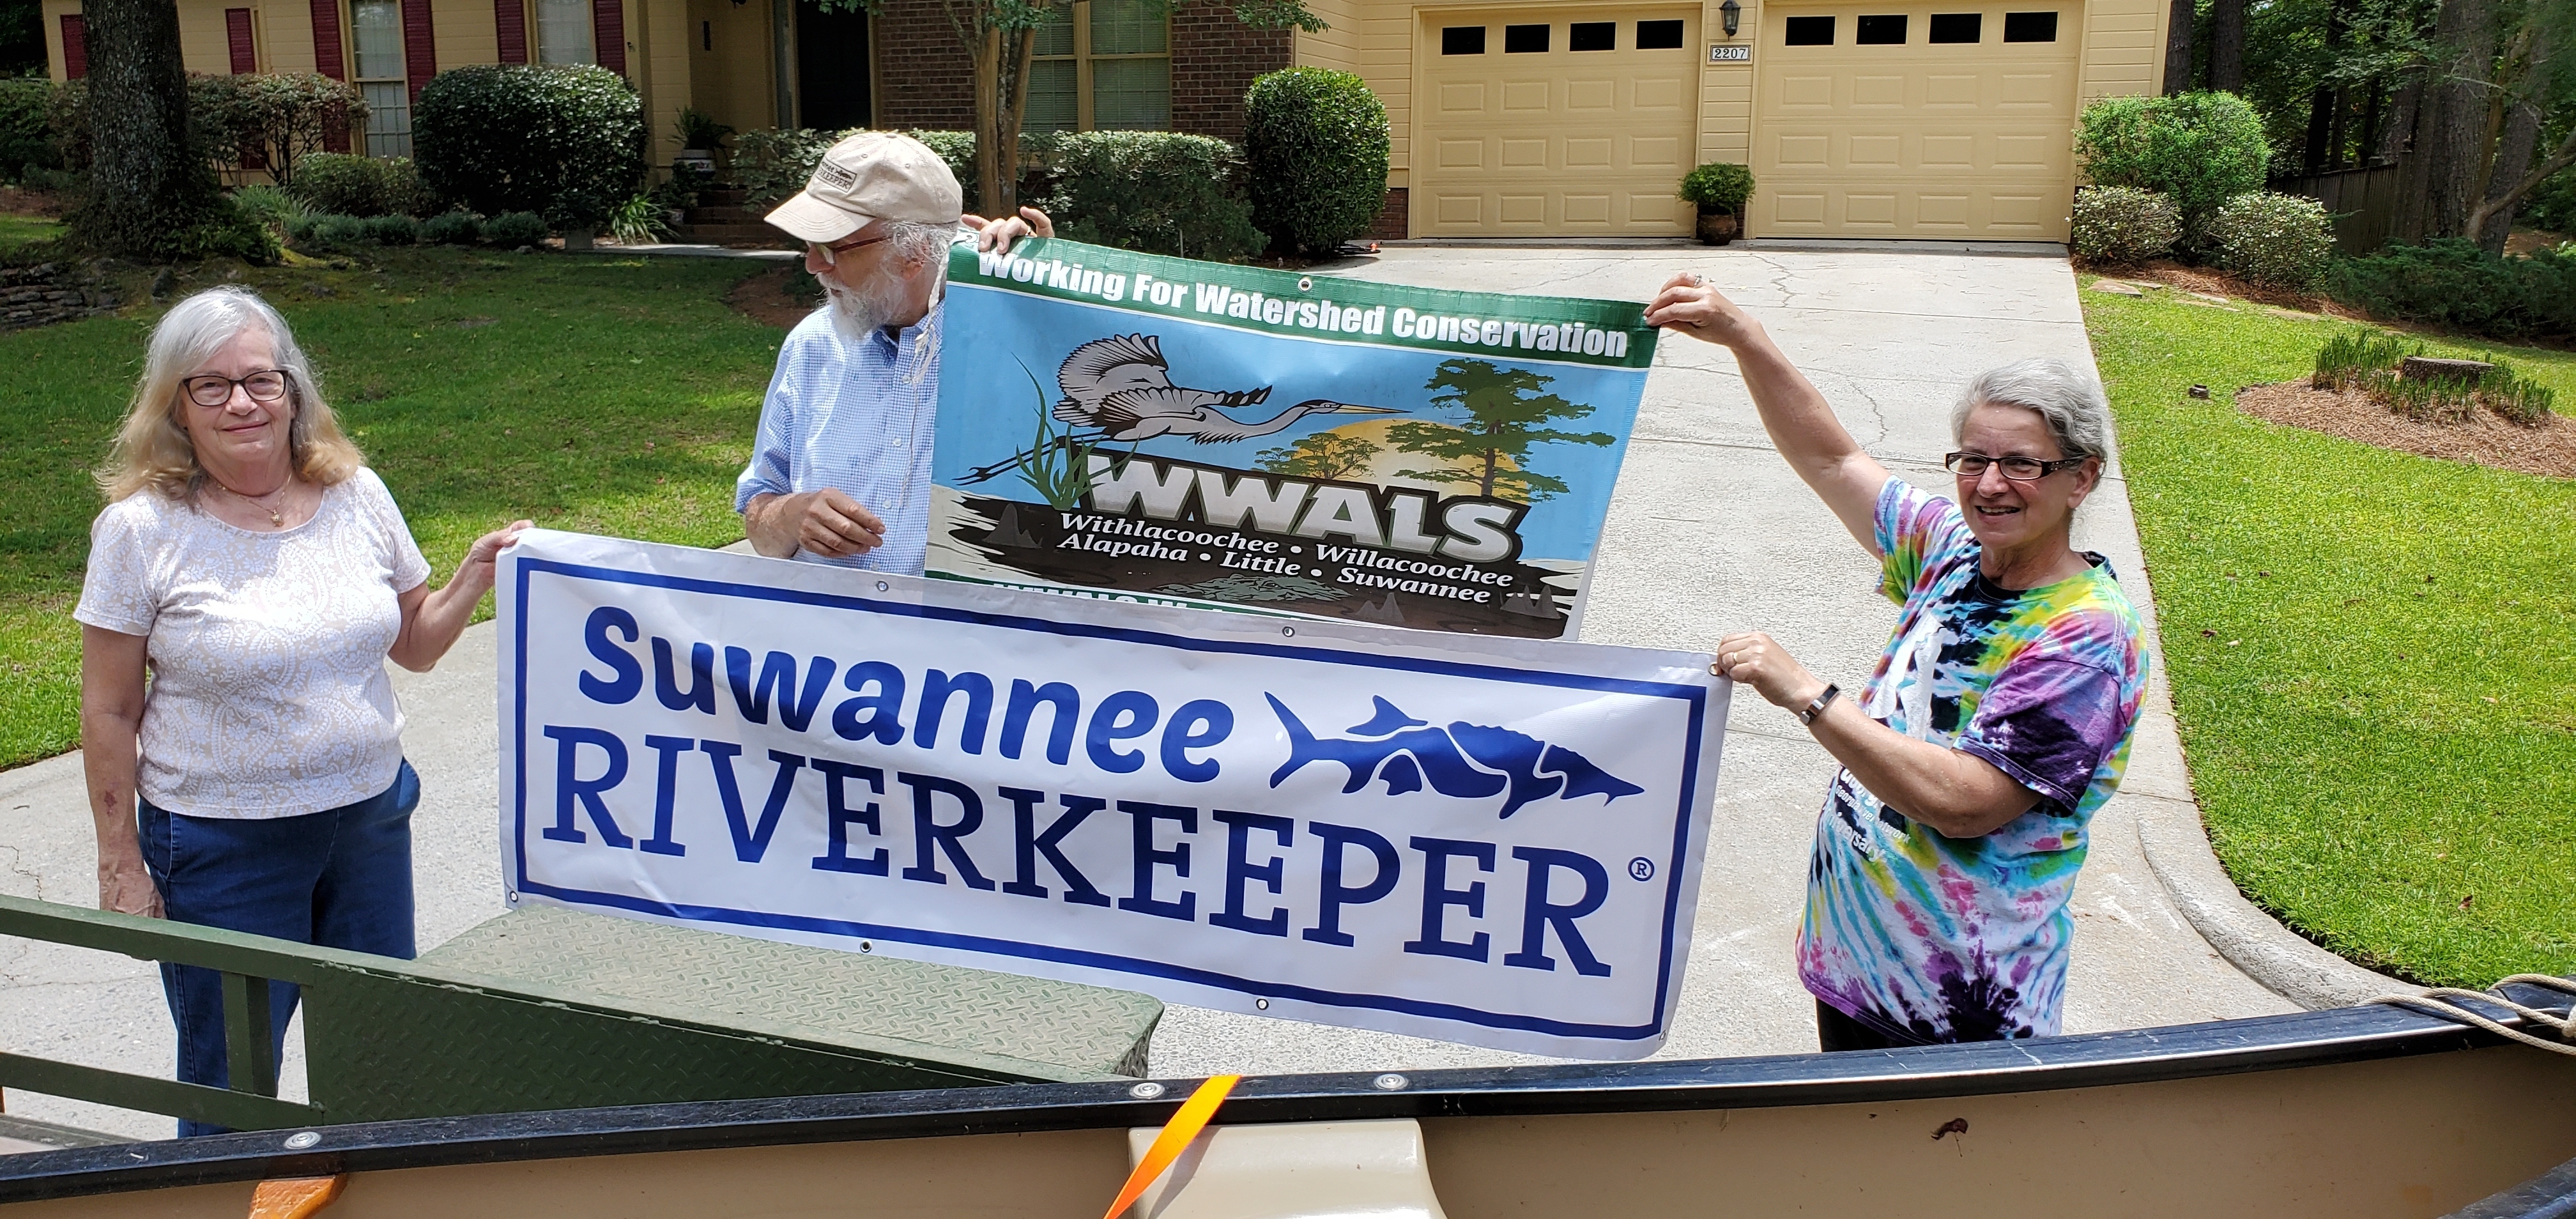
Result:
M2174 201L2184 247L2218 206L2262 191L2272 147L2262 116L2233 93L2102 98L2076 124L2076 162L2092 186L2133 186Z

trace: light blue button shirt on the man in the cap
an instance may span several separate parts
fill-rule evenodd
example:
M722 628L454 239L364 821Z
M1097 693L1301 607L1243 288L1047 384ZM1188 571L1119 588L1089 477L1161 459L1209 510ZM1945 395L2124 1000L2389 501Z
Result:
M840 487L886 521L886 544L853 559L804 549L796 557L922 575L943 309L933 304L927 317L894 338L871 330L858 348L840 340L824 309L796 322L760 402L752 464L734 479L734 510L750 508L752 495Z

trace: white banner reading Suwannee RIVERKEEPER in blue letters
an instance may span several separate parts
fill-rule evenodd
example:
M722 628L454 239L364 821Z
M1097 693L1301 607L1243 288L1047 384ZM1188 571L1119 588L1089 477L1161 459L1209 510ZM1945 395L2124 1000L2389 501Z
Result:
M1672 1021L1708 657L531 531L510 902L1566 1057Z

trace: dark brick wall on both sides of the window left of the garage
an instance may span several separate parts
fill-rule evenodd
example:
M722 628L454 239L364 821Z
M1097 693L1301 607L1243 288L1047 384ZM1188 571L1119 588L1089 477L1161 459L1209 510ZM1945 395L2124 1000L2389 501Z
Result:
M873 44L876 126L974 126L974 59L938 0L889 0ZM1288 31L1249 28L1229 3L1185 3L1172 13L1172 131L1244 139L1244 90L1288 59Z

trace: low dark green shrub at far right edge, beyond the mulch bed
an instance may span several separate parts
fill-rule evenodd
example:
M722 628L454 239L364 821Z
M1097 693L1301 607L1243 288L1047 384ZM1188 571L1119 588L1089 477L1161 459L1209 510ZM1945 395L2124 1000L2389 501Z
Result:
M2555 250L2501 258L2460 237L2385 245L2329 263L2321 291L2372 317L2476 335L2576 335L2576 258Z

